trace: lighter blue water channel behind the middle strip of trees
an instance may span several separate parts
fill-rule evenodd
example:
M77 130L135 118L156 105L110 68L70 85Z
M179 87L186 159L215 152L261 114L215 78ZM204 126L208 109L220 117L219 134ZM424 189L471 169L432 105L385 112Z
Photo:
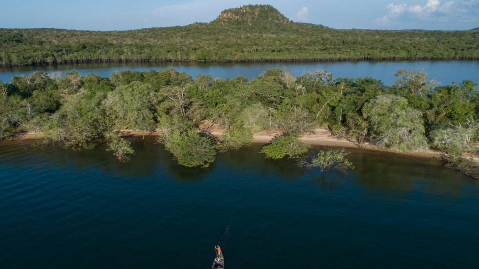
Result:
M335 78L372 77L381 80L385 85L392 85L397 79L394 74L398 70L414 69L429 73L430 79L435 79L443 85L463 80L479 83L479 61L400 61L400 62L273 62L273 63L128 63L128 64L76 64L65 66L26 67L0 70L0 80L8 82L13 76L29 75L33 71L48 73L68 70L78 71L82 75L98 73L109 77L119 70L149 71L173 67L180 72L187 72L193 78L198 74L212 75L213 78L226 79L243 76L252 79L270 68L286 68L295 77L307 71L323 69L331 72Z

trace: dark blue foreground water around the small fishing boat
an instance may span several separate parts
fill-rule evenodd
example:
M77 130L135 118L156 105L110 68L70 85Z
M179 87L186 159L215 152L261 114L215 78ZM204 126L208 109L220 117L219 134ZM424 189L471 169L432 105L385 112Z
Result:
M0 143L2 268L476 268L479 186L438 161L353 151L346 176L260 146L178 166L100 145Z

